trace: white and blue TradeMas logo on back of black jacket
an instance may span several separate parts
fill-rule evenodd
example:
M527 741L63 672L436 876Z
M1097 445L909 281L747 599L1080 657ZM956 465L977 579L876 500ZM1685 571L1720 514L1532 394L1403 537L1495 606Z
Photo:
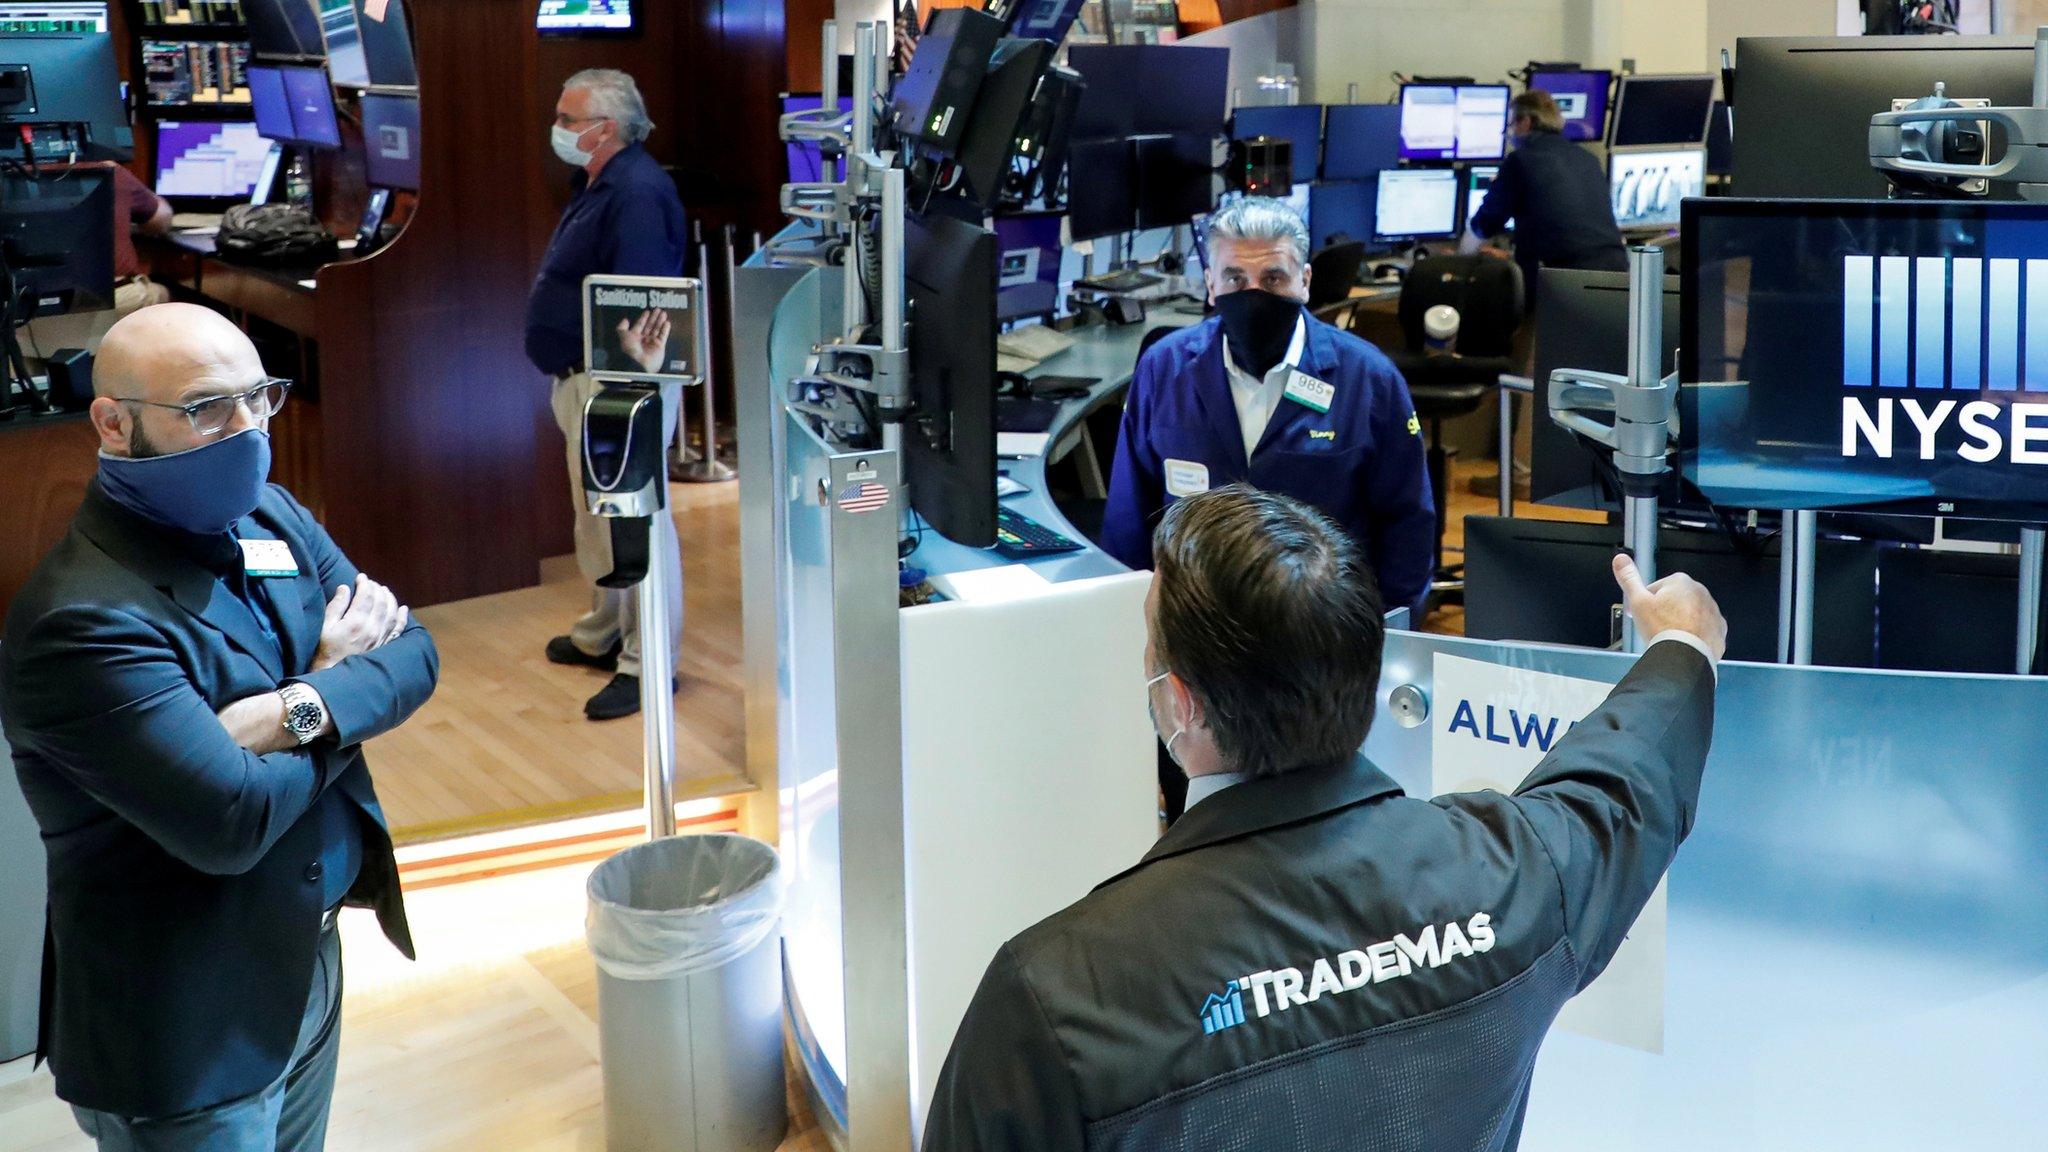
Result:
M1333 957L1317 957L1309 972L1300 968L1270 968L1253 972L1225 984L1223 992L1212 992L1202 1000L1202 1035L1217 1035L1245 1023L1245 992L1251 992L1251 1006L1257 1019L1286 1013L1321 1000L1341 996L1368 984L1384 984L1419 970L1444 968L1458 957L1493 951L1493 916L1477 912L1462 924L1423 924L1419 933L1395 935L1364 949L1343 951Z

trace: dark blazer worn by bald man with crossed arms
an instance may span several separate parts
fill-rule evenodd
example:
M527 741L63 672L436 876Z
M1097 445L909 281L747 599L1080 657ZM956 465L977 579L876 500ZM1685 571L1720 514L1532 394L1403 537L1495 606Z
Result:
M131 1117L256 1093L291 1056L313 974L330 793L360 818L350 902L412 955L391 836L360 744L434 691L418 621L307 674L324 590L356 568L283 488L242 537L291 545L268 580L283 662L256 617L199 564L197 537L115 504L98 482L14 601L0 719L49 855L37 1052L57 1097ZM215 713L283 678L326 699L338 734L254 756Z

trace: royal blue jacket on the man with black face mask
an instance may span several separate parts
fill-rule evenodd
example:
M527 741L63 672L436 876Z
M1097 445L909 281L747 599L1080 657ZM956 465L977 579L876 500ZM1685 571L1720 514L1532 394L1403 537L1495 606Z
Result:
M1208 488L1245 480L1282 492L1343 525L1380 580L1389 609L1419 607L1436 556L1436 502L1421 424L1407 381L1378 348L1309 318L1303 373L1329 383L1329 412L1294 398L1274 406L1251 459L1223 365L1223 322L1184 328L1139 359L1116 435L1102 547L1151 568L1151 533L1174 494L1167 461L1208 469ZM1182 469L1176 488L1186 490Z

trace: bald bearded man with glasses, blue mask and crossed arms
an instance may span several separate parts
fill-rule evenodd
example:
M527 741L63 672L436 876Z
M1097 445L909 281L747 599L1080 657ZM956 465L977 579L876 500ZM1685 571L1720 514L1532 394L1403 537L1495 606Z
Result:
M285 381L215 312L100 346L98 476L14 601L0 722L49 855L37 1052L102 1152L315 1152L342 904L412 955L362 742L434 642L270 471Z

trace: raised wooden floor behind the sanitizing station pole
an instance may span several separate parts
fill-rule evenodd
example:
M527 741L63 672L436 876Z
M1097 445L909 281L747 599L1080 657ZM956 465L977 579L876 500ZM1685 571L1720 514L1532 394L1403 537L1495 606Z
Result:
M745 787L739 695L739 486L670 486L682 537L684 633L676 697L680 799ZM369 746L399 842L535 824L641 801L641 722L594 724L584 701L608 672L541 654L586 611L569 558L537 588L422 609L440 687Z

